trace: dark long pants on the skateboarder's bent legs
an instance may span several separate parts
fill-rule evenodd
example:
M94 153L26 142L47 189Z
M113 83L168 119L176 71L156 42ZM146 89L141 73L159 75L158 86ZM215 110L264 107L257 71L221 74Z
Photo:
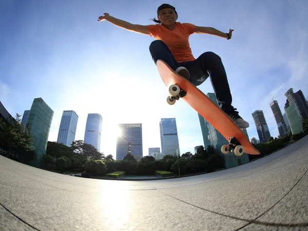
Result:
M195 86L201 85L201 83L210 77L218 103L220 104L223 102L224 108L233 108L231 106L232 96L227 75L221 58L217 54L213 52L205 52L194 61L179 63L162 40L152 41L150 45L150 53L155 64L157 60L162 59L174 71L178 67L185 67L190 74L189 81Z

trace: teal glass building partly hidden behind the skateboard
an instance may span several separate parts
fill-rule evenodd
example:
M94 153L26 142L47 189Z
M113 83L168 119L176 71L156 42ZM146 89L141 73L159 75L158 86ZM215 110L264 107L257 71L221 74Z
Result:
M215 93L207 93L207 97L209 97L214 103L218 105L217 98ZM220 155L224 157L226 169L229 167L235 167L241 165L243 163L249 162L248 154L244 153L242 156L236 156L233 152L229 152L227 154L222 154L221 147L223 144L228 144L229 142L218 132L213 125L211 125L206 119L204 119L199 113L199 121L202 131L202 137L204 142L205 149L208 145L212 145L216 148Z

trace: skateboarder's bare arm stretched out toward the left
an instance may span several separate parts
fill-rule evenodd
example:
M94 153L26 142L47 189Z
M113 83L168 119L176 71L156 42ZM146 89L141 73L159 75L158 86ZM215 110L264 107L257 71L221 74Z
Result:
M104 16L99 16L99 19L98 19L99 22L104 21L104 20L112 23L115 26L128 30L128 31L137 32L140 34L148 34L148 35L150 34L147 26L131 24L124 20L112 17L108 13L104 13Z

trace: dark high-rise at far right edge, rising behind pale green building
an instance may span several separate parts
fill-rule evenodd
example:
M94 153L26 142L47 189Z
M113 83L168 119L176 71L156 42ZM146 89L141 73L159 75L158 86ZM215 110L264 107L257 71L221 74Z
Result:
M284 95L287 98L285 109L288 108L287 104L295 103L301 120L308 119L308 104L302 91L294 93L293 88L290 88Z

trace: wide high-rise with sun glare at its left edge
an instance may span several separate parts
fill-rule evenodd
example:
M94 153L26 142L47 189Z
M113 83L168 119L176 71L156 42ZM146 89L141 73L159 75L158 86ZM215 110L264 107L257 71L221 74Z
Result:
M117 139L117 160L123 160L127 154L131 154L137 161L143 157L142 152L142 124L118 124L121 135Z

